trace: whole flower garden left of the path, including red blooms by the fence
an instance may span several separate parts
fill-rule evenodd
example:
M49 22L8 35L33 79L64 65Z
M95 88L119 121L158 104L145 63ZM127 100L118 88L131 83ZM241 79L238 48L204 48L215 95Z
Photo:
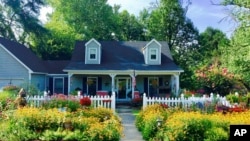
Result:
M93 108L89 99L57 95L40 108L18 108L10 93L0 96L1 141L119 141L123 135L121 119L111 109Z

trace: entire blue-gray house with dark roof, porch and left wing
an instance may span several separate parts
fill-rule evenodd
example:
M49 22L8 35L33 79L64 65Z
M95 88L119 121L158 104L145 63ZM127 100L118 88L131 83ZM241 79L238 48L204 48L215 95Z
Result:
M77 41L69 61L43 61L28 48L0 38L0 88L29 83L39 90L85 95L115 92L126 101L134 92L166 96L179 91L183 70L167 42Z

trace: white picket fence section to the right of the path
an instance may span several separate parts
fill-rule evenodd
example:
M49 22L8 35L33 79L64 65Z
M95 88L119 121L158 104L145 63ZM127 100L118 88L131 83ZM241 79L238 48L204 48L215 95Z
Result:
M146 94L143 94L143 108L156 103L166 104L169 107L176 107L181 105L183 108L189 108L191 105L205 105L206 103L213 102L213 100L216 100L222 105L231 107L230 102L226 100L226 97L222 97L220 95L214 96L214 94L211 93L209 97L207 97L206 95L203 95L203 97L195 97L194 95L192 95L192 97L189 98L185 98L184 94L181 94L181 96L178 98L147 97Z

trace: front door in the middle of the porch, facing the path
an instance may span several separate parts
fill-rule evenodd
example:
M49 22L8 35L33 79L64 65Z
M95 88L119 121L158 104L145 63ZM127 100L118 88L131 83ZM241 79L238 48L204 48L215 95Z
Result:
M126 100L128 98L127 93L131 90L130 78L117 78L116 79L116 91L117 99Z

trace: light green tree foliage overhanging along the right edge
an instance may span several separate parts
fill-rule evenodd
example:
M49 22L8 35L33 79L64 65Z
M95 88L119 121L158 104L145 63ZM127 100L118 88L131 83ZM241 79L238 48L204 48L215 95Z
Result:
M226 51L226 64L231 71L240 76L250 90L250 3L248 0L225 0L225 5L233 5L233 19L239 23L234 31L230 50ZM232 55L233 54L233 55Z

